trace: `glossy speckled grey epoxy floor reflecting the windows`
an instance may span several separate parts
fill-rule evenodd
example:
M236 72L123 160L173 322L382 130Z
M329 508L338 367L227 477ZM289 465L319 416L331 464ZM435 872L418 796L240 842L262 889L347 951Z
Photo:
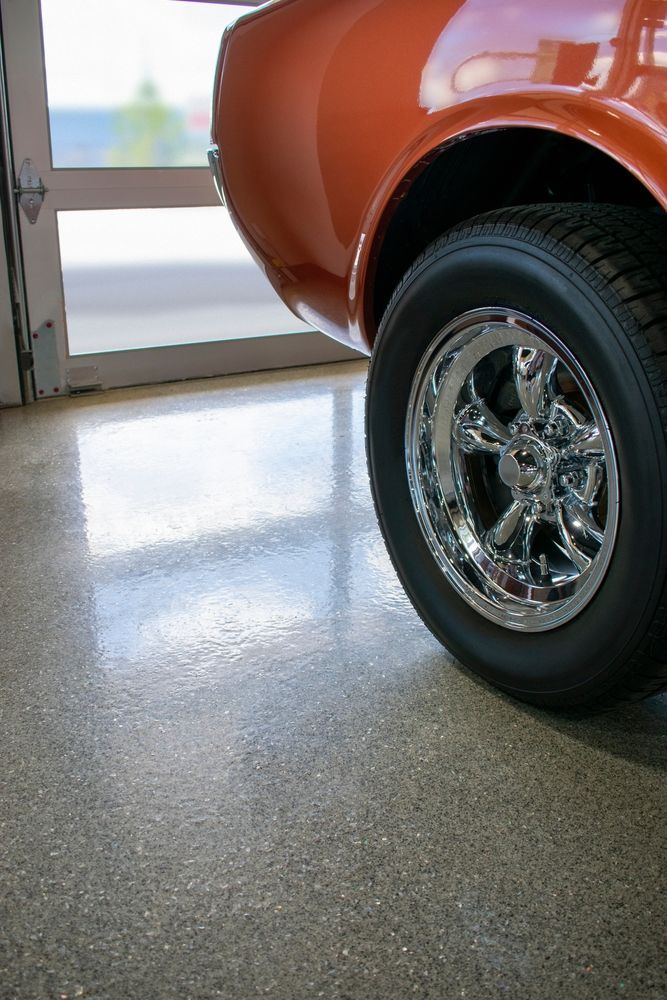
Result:
M0 996L664 997L664 698L475 681L364 366L0 413Z

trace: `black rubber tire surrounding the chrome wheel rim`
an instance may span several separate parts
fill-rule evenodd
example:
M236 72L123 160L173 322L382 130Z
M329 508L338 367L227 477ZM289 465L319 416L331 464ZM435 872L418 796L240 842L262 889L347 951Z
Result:
M464 584L452 585L457 570L434 557L423 528L431 515L420 521L406 470L420 365L457 317L495 308L533 318L565 345L597 394L615 448L620 504L604 572L576 613L544 629L507 627L480 613ZM608 708L667 684L666 381L667 222L658 212L573 204L479 216L431 245L387 307L366 400L371 487L387 548L435 636L522 700ZM505 478L502 488L510 486L515 480ZM550 564L540 558L546 580Z

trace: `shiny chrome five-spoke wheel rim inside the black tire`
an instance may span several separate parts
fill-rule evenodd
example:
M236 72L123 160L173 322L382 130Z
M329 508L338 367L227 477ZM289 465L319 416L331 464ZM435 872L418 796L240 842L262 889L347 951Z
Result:
M616 455L595 389L551 331L496 308L450 323L415 373L405 452L431 553L478 612L542 631L591 600L618 527Z

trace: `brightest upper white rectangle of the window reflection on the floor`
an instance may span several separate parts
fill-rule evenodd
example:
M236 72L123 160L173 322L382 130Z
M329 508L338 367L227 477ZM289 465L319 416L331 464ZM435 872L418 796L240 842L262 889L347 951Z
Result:
M92 556L264 531L328 509L331 393L207 404L79 431Z

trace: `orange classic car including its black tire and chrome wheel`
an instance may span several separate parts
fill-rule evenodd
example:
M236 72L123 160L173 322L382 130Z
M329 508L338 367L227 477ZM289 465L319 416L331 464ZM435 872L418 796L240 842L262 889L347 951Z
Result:
M543 705L667 677L666 16L274 0L221 45L216 184L287 305L371 355L396 571Z

